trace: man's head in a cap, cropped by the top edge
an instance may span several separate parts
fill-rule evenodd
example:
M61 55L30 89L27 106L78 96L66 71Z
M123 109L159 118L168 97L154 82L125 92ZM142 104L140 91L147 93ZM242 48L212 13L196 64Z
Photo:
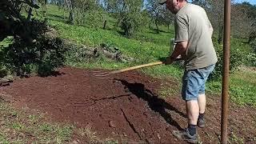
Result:
M159 0L160 5L166 4L166 9L170 10L173 14L177 14L185 4L187 0Z

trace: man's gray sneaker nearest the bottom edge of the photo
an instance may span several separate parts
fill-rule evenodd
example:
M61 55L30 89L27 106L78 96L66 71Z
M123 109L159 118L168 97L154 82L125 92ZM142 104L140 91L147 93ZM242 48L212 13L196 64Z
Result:
M185 130L174 130L173 134L176 138L186 142L190 142L190 143L198 142L198 134L190 135L190 132L187 128Z

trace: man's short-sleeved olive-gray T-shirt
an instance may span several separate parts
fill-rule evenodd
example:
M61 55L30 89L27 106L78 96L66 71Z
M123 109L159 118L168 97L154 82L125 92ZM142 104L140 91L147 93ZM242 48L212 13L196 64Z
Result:
M175 16L175 42L187 41L186 70L210 66L218 61L211 39L211 24L202 7L187 3Z

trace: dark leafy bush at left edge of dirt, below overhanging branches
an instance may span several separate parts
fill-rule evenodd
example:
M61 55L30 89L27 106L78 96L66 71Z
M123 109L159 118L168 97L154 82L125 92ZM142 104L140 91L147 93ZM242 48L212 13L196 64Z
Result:
M3 46L0 50L1 70L18 76L31 73L49 75L65 63L66 48L60 38L48 37L45 32L49 30L43 22L32 21L29 26L34 42L15 37L13 43Z

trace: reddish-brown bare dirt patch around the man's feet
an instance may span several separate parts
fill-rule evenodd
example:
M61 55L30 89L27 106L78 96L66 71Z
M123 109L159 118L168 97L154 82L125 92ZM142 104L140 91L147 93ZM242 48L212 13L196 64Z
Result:
M89 73L66 67L55 76L22 78L0 90L11 95L16 106L40 110L57 122L91 126L100 138L131 143L184 143L171 134L172 130L186 127L184 102L179 95L170 94L164 100L156 94L166 83L177 89L174 82L161 82L136 71L105 80L91 77ZM204 143L218 142L220 103L218 96L208 98L207 127L198 130ZM256 138L253 107L232 105L230 113L230 135L247 142Z

